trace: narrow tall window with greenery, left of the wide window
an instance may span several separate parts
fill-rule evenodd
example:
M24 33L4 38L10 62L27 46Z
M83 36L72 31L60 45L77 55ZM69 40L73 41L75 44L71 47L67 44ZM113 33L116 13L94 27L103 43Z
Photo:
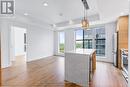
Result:
M64 53L65 49L65 34L64 32L59 32L59 53Z

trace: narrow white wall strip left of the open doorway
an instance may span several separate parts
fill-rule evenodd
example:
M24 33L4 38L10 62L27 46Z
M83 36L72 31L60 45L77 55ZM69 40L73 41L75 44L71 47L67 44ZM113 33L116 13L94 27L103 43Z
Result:
M0 24L0 30L1 30L1 62L2 62L2 68L8 67L11 65L10 62L10 30L9 30L9 22L4 20L1 21Z

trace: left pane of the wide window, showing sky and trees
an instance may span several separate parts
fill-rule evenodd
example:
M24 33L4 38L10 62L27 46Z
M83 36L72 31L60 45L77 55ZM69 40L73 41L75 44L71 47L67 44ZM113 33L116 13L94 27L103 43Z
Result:
M76 30L76 49L83 48L83 30Z

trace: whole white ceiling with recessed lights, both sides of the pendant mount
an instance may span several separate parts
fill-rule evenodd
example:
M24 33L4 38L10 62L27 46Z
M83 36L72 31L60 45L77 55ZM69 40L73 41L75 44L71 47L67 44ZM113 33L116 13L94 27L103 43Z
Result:
M44 1L48 6L43 5ZM128 0L87 0L88 15L99 14L101 20L117 17L128 9ZM15 0L16 14L28 13L30 17L56 24L83 17L81 0ZM59 14L63 14L60 16Z

